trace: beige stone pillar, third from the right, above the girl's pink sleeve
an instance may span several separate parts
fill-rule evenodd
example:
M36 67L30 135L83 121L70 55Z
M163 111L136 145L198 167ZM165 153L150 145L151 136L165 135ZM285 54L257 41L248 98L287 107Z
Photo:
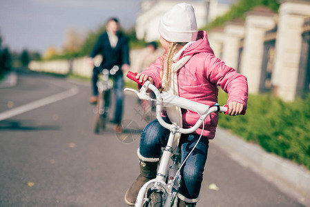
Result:
M237 70L240 40L244 38L244 21L236 19L226 23L224 28L223 61Z

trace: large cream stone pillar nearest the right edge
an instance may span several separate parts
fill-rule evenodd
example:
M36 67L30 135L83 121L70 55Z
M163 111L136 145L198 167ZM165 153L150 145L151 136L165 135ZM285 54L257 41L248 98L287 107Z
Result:
M302 26L310 15L309 0L281 0L278 34L275 43L275 68L271 82L273 93L286 101L293 101L298 90Z

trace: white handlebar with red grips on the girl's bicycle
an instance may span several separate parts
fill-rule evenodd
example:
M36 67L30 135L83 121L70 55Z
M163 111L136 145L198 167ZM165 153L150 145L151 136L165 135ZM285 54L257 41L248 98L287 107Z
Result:
M142 86L140 89L140 92L137 92L137 90L133 90L130 88L125 88L124 90L130 90L135 92L135 94L139 97L139 99L145 99L145 100L151 100L151 97L148 97L146 95L146 90L150 89L155 93L157 104L156 104L156 117L159 123L164 126L164 128L171 129L173 127L173 124L168 124L166 121L162 119L162 106L169 107L169 106L178 106L180 108L185 108L188 110L193 110L200 114L200 119L197 120L196 124L191 128L178 128L178 131L182 134L189 134L197 130L202 125L202 121L206 119L206 117L211 114L211 112L225 112L225 115L229 112L229 106L208 106L203 103L197 103L195 101L191 101L188 99L184 99L182 97L178 97L176 95L171 95L168 92L162 92L160 93L159 90L150 82L150 81L144 81L143 83L139 82L139 79L136 79L137 74L131 71L128 71L126 75L129 79L137 82L139 85ZM245 114L245 109L242 111Z

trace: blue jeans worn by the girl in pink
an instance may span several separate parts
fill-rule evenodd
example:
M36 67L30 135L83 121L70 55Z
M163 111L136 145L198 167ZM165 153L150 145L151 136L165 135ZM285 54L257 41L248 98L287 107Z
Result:
M165 118L163 119L167 121ZM140 155L146 158L159 158L161 148L166 146L169 133L170 131L160 125L157 119L148 124L140 138ZM193 134L181 136L179 146L182 161L188 152L191 152L199 137L200 135ZM188 199L196 199L199 196L208 148L209 140L202 137L181 169L182 184L179 193Z

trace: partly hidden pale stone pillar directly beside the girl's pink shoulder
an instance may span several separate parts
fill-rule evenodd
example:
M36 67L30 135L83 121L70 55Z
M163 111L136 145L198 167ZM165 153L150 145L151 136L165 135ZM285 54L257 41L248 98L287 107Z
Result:
M222 59L224 28L214 28L207 32L210 46L216 57Z

